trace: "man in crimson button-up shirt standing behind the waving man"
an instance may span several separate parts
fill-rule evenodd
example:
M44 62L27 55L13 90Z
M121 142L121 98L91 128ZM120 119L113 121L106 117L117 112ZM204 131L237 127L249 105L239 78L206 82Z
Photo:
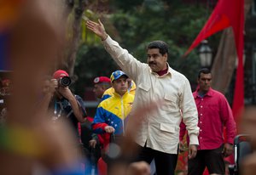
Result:
M211 71L207 68L201 69L197 82L198 88L193 96L198 110L199 146L195 159L188 162L189 174L201 175L206 167L210 174L225 174L224 157L233 152L236 122L227 99L222 93L211 88ZM182 138L184 125L180 127Z

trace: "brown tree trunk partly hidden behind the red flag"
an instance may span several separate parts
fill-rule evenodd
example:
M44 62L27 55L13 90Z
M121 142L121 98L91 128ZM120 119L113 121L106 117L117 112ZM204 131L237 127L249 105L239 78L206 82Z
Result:
M244 13L246 15L252 5L252 0L245 0ZM236 68L236 46L232 28L224 30L218 53L212 65L212 88L226 93L229 88L233 72Z

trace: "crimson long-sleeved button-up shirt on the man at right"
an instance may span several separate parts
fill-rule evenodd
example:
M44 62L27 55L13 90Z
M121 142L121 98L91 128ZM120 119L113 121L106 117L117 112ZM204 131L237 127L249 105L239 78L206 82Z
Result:
M203 98L196 91L193 96L199 116L198 150L213 150L224 144L224 126L227 143L233 144L236 136L236 122L224 95L210 88Z

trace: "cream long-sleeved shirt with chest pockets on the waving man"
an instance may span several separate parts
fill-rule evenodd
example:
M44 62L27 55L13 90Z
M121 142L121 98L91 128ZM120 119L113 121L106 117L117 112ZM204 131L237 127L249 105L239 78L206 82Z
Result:
M169 65L168 72L159 76L151 71L148 64L135 59L111 37L103 41L103 45L122 71L136 82L134 107L164 99L164 103L159 104L158 109L142 121L137 144L144 146L147 142L146 146L153 150L177 154L182 117L189 132L190 144L198 144L198 117L189 80ZM183 111L183 116L180 111Z

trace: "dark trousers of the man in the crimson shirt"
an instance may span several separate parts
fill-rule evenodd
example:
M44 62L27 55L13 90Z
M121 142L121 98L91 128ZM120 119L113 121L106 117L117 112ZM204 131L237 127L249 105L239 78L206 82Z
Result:
M195 159L188 162L189 175L201 175L207 167L210 174L224 174L223 145L215 150L198 150Z

